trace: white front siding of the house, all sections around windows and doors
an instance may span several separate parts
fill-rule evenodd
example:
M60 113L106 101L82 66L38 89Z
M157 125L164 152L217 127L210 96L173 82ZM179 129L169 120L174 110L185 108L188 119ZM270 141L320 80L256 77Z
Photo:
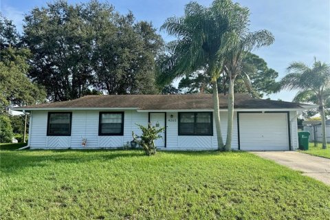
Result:
M173 118L170 118L173 115ZM227 113L221 112L221 131L225 142ZM290 112L292 147L298 147L296 111ZM136 124L148 123L147 112L124 111L123 136L98 136L99 111L72 111L71 136L47 136L47 111L32 111L29 143L31 148L83 148L83 137L87 138L85 148L117 148L132 140L131 133L141 134ZM177 112L166 113L166 149L168 150L207 150L217 149L217 132L213 118L213 136L178 135ZM234 113L232 149L238 149L237 114Z

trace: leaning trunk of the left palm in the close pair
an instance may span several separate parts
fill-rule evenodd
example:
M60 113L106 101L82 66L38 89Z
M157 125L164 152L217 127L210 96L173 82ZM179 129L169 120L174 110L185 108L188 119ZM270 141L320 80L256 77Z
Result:
M223 151L223 140L221 134L221 124L220 124L220 112L219 112L219 97L218 97L218 85L217 80L212 82L213 89L213 109L214 109L214 122L217 129L217 140L218 140L218 150Z

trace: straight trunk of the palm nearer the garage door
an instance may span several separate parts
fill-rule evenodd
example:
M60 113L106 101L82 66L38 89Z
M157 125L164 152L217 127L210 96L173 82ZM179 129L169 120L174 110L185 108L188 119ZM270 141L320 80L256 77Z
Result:
M225 140L225 151L232 150L232 126L234 120L234 79L229 78L228 87L228 124L227 124L227 138Z

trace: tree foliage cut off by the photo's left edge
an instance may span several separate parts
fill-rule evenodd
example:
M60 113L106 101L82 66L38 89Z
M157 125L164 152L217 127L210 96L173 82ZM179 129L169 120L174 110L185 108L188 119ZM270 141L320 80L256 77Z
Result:
M12 105L36 104L45 99L43 89L27 73L30 51L19 45L19 34L11 21L0 16L0 113Z

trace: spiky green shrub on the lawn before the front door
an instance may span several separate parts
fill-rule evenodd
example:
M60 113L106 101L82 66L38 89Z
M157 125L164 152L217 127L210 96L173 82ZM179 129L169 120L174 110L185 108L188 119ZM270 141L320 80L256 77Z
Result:
M137 124L137 126L140 127L142 131L142 135L137 136L132 131L133 140L137 142L137 144L142 146L146 155L148 156L155 155L156 154L155 140L162 138L162 135L159 135L159 133L164 131L165 128L162 127L159 129L156 126L153 126L151 123L149 123L147 126L143 126L141 124Z

